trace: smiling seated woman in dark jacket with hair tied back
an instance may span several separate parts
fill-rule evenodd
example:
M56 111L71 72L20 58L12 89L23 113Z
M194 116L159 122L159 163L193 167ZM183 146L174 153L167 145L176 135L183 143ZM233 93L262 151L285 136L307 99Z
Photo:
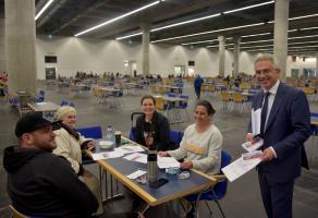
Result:
M170 140L168 119L156 111L156 99L146 95L140 100L143 116L136 121L136 143L149 147L155 144L157 150L175 148Z

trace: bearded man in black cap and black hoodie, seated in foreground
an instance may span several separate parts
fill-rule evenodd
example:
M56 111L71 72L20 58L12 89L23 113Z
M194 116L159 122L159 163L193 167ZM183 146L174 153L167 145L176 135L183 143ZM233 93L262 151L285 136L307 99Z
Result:
M68 160L53 155L52 123L28 113L15 126L19 146L4 149L8 192L13 206L27 216L89 217L97 199L78 180Z

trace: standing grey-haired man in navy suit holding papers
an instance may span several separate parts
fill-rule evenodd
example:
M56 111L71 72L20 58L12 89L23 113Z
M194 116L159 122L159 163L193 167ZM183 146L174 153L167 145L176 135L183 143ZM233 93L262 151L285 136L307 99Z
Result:
M304 142L309 137L310 113L306 95L279 80L280 70L271 56L255 61L256 78L262 90L253 99L261 108L262 161L258 178L269 218L291 218L294 181L307 164ZM246 141L253 141L247 133Z

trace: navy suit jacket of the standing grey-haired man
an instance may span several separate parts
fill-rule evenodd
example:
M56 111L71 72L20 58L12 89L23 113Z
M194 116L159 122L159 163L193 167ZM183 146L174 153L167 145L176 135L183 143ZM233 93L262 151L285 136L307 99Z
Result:
M261 108L264 92L258 93L252 107ZM310 112L304 92L280 83L268 117L262 149L272 146L277 158L261 162L260 173L272 182L286 182L301 174L307 164L304 142L310 135Z

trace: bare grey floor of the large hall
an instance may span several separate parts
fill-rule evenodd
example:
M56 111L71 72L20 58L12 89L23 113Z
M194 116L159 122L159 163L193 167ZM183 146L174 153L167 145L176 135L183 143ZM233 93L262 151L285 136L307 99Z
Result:
M44 86L45 87L45 86ZM112 124L115 129L121 130L123 135L127 135L131 129L130 114L139 109L140 96L150 93L149 89L145 89L138 94L126 95L124 99L124 106L120 108L109 108L108 106L98 105L91 94L84 96L72 96L65 92L56 90L52 87L47 88L47 100L60 104L61 99L72 100L78 111L77 126L87 125L101 125L103 131L108 124ZM191 96L188 111L193 111L193 107L196 102L194 92L191 84L185 85L185 94ZM228 150L234 159L241 156L242 148L241 143L245 138L246 125L248 122L248 113L236 113L223 111L221 109L220 101L217 97L205 97L209 99L217 113L215 114L213 122L220 129L223 134L224 142L223 148ZM310 109L318 111L318 104L311 104ZM3 157L3 148L15 144L15 137L13 134L14 125L17 120L16 113L8 106L0 106L0 158ZM171 129L184 130L188 123L174 124ZM308 157L310 158L311 169L310 171L303 171L303 175L297 179L294 189L294 217L295 218L314 218L318 217L318 138L313 144L310 137L306 142L306 149ZM96 166L90 166L96 171ZM8 204L10 199L5 191L7 175L3 169L2 161L0 165L0 217L10 217ZM221 201L221 204L225 210L227 217L241 217L241 218L262 218L266 217L265 210L261 204L257 174L255 170L252 170L244 177L229 184L227 196ZM215 204L213 217L220 217ZM112 202L105 204L106 215L105 217L125 217L124 211L129 210L130 203L126 199ZM159 208L161 213L155 213L151 217L175 217L171 206L163 206ZM180 215L180 214L179 214ZM201 205L200 217L208 217L208 210Z

